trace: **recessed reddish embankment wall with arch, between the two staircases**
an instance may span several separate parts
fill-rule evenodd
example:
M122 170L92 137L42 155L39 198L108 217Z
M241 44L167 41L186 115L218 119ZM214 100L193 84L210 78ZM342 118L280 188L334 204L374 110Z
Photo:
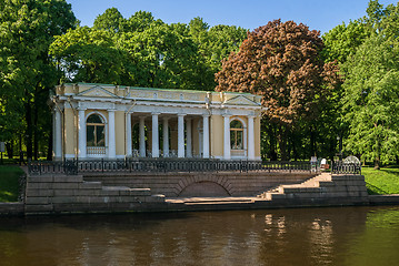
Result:
M194 172L194 173L90 173L84 181L110 186L151 188L153 194L178 196L255 196L281 184L298 184L316 176L310 172Z

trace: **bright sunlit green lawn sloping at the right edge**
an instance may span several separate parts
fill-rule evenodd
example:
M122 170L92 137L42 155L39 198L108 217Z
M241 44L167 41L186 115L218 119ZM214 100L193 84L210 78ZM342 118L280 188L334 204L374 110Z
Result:
M380 170L362 167L366 186L370 195L399 194L399 167L387 166Z

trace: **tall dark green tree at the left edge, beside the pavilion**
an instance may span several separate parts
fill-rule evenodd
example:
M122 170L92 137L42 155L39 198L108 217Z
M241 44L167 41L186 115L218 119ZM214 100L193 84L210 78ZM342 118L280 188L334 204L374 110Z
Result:
M49 115L46 101L50 88L58 81L56 68L48 55L53 35L62 34L76 24L70 4L64 0L4 0L0 2L0 95L2 117L23 116L28 157L38 157L43 136L39 113ZM12 99L14 98L14 99ZM2 121L2 131L14 137L16 121ZM48 131L48 129L46 129Z

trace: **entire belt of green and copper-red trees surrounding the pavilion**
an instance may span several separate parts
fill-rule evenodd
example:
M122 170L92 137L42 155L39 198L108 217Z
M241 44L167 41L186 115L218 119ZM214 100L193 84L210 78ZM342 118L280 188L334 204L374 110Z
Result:
M50 150L48 93L83 81L260 94L263 158L331 157L337 136L365 160L399 158L398 4L370 0L366 17L322 39L292 21L247 32L202 18L168 24L147 11L123 18L116 8L92 28L76 23L64 0L0 2L0 139L8 150L26 146L29 157Z

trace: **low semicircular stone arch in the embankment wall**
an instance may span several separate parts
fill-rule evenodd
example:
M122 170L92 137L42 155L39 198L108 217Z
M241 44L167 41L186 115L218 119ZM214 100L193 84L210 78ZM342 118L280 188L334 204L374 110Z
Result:
M231 196L232 185L226 177L218 175L194 175L179 182L178 196Z

